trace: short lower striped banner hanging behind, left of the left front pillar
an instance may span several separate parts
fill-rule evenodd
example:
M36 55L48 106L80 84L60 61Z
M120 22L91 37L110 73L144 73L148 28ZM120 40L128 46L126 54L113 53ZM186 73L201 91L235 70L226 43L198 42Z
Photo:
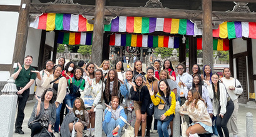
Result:
M86 44L91 45L93 41L93 33L64 33L59 32L58 41L59 44Z

